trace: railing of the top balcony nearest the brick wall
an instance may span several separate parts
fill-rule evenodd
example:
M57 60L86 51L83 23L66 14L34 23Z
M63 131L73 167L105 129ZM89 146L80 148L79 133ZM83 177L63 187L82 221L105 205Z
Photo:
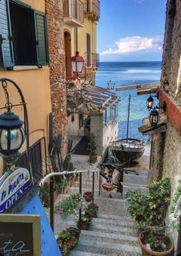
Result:
M84 23L84 2L81 0L64 0L64 17L73 17Z

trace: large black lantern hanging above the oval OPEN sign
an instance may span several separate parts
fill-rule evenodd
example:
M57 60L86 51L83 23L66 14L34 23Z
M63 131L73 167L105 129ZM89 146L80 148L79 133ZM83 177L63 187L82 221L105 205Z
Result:
M3 156L18 155L25 141L23 121L11 111L0 115L0 153Z

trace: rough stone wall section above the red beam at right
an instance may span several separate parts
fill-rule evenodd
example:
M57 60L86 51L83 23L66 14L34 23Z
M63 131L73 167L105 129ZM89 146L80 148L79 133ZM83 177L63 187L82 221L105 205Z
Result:
M181 106L181 1L168 0L161 85Z

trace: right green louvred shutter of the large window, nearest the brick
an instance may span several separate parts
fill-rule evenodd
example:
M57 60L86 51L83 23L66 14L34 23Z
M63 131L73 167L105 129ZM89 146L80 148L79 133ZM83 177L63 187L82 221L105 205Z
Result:
M44 12L35 11L35 33L38 66L48 65L48 37Z

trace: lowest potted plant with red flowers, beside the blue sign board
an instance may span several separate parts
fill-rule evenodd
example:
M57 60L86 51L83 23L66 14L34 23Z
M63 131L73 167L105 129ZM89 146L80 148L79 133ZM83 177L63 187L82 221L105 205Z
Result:
M67 227L67 229L61 231L57 241L63 256L69 255L70 251L76 247L79 236L80 231L74 227Z

